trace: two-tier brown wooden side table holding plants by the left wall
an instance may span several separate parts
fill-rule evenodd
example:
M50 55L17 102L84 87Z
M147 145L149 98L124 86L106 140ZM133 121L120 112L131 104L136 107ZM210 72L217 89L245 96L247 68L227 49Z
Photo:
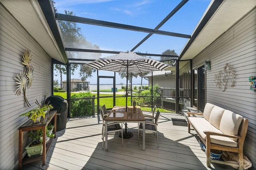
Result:
M19 130L19 164L18 169L22 169L22 164L27 164L30 162L35 162L38 160L42 160L42 166L46 165L46 154L50 149L50 145L52 144L53 139L56 137L56 122L57 122L57 111L49 111L49 117L46 120L41 120L39 123L33 123L32 121L28 120L22 126L18 128ZM52 137L49 143L46 145L46 126L50 123L50 121L54 118L54 137ZM43 154L42 155L35 155L33 157L25 156L22 159L23 154L23 132L24 131L32 131L37 129L43 129Z

